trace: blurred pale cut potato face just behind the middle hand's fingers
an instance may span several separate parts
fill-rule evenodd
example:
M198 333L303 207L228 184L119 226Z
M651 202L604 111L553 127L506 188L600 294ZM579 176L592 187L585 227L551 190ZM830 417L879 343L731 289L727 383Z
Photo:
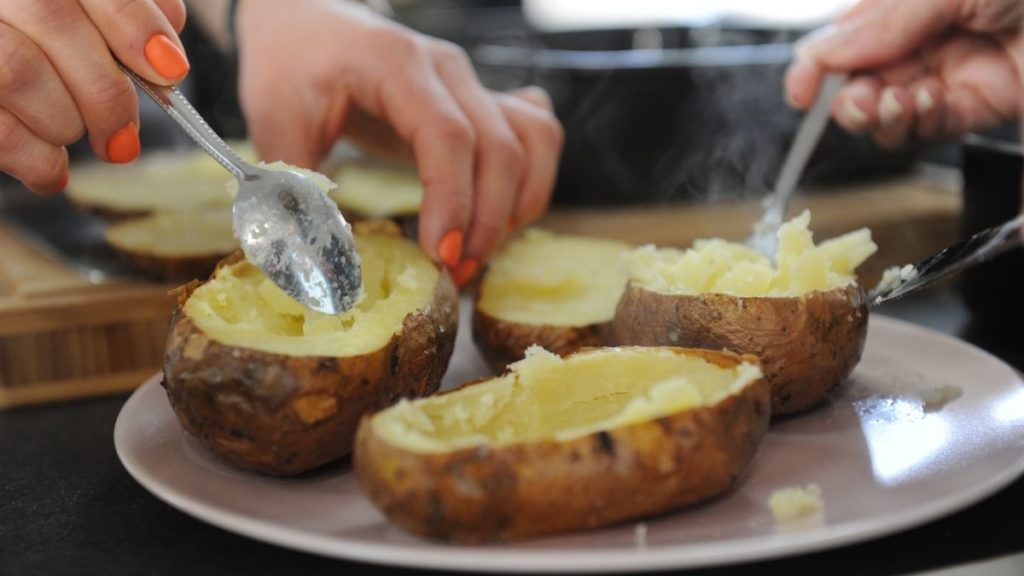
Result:
M331 198L346 212L369 218L408 216L420 211L423 184L414 171L359 163L346 164L334 176Z

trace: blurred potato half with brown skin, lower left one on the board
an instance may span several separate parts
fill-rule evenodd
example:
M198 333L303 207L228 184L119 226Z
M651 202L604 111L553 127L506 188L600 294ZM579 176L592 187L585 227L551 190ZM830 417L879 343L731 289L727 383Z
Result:
M124 218L111 223L104 235L126 260L163 280L206 278L239 249L228 208Z

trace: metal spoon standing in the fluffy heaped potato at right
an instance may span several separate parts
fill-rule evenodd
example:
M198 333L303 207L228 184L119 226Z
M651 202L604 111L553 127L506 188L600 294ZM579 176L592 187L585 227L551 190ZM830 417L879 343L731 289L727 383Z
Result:
M846 76L842 74L825 75L818 91L818 97L814 100L811 110L807 111L804 120L800 123L797 136L790 146L790 152L782 163L782 169L775 180L775 190L766 199L765 211L761 219L754 224L754 233L746 239L746 245L765 254L772 260L775 259L775 250L778 248L778 229L782 225L782 218L785 217L785 208L790 205L790 197L800 181L800 176L804 173L804 167L814 152L821 133L828 124L828 110L831 101L846 84Z

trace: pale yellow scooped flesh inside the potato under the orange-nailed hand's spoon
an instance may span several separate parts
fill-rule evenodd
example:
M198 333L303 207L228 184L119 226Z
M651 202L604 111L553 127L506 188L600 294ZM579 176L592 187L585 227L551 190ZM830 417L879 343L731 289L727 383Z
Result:
M233 346L338 358L380 349L407 316L430 304L439 273L402 238L357 233L355 244L362 297L341 315L306 308L246 261L222 266L184 312L210 338Z

